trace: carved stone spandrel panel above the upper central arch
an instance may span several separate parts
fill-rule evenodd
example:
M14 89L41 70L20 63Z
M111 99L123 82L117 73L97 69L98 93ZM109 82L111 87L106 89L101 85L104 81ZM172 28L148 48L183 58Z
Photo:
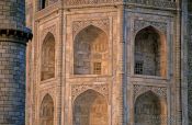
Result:
M72 34L74 37L84 27L89 25L98 26L99 29L103 30L106 34L110 31L110 20L102 19L102 20L87 20L87 21L74 21L72 22Z

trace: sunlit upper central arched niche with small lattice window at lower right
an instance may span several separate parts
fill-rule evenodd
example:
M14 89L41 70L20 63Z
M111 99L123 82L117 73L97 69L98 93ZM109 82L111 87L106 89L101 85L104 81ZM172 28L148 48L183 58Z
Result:
M80 31L74 43L75 75L109 73L109 38L104 31L90 25Z

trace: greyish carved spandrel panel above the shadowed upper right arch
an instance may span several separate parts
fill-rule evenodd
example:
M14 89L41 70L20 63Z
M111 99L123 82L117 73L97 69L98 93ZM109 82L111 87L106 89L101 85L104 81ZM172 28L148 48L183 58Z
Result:
M146 20L135 20L134 21L134 33L136 34L142 29L145 29L147 26L154 26L157 27L162 33L167 33L167 26L168 24L165 22L155 22L155 21L146 21Z

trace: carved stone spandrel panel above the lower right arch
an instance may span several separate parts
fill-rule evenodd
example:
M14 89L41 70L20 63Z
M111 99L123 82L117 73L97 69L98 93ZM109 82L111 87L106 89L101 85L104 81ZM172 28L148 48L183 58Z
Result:
M167 88L165 87L134 84L134 100L136 100L139 95L148 91L154 92L159 98L167 99Z

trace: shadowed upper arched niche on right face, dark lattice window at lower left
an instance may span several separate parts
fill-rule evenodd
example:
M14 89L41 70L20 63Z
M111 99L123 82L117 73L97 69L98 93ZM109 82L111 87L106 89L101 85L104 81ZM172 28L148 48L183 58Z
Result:
M137 32L134 55L135 75L166 77L167 46L161 32L153 26Z

